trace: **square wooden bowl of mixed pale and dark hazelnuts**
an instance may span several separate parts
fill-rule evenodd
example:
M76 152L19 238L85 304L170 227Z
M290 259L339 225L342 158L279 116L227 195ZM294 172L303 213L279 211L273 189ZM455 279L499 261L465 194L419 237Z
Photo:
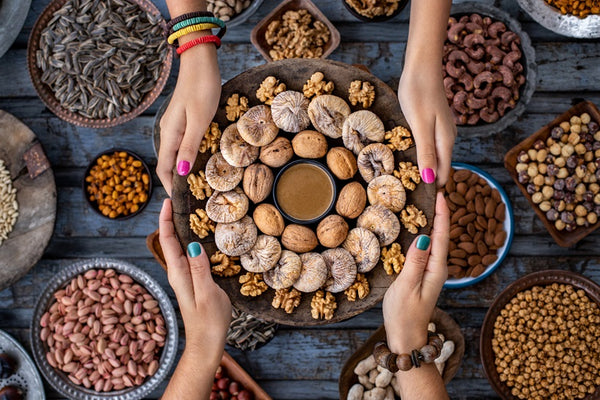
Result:
M504 165L559 246L600 226L600 111L584 101L513 147Z

